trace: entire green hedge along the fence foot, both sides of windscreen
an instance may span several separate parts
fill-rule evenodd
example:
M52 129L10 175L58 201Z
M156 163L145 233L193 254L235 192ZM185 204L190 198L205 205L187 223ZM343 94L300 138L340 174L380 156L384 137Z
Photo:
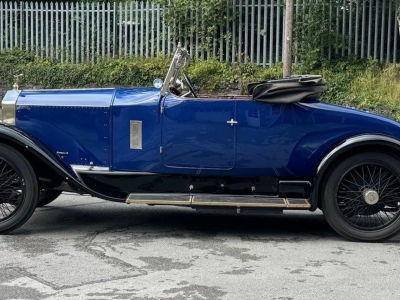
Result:
M71 64L36 59L32 53L0 53L0 85L12 86L13 75L23 73L24 88L150 86L167 72L170 58L99 59L96 64ZM184 71L201 92L246 91L249 82L279 78L282 65L221 63L215 59L191 61ZM328 83L322 100L376 111L400 120L400 65L379 65L373 60L325 61L315 69L302 65L293 74L321 74Z

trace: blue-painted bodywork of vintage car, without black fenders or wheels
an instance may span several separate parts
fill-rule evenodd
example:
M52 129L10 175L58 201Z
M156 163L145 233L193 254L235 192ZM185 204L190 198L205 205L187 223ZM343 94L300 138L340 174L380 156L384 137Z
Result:
M111 171L311 180L350 137L400 138L391 119L317 100L161 98L155 88L22 91L16 112L17 128L68 153L64 164ZM132 120L142 122L142 149L129 147Z

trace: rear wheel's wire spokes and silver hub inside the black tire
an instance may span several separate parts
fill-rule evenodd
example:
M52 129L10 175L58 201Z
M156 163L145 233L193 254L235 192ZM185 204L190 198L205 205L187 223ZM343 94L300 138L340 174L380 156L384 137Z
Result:
M349 170L339 183L337 208L355 228L379 230L399 217L400 180L378 164L361 164Z

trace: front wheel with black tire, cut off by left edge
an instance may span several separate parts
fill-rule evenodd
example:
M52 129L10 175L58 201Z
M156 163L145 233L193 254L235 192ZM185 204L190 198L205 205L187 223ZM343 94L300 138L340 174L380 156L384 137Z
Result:
M35 172L26 158L7 145L0 145L0 233L24 224L38 199Z

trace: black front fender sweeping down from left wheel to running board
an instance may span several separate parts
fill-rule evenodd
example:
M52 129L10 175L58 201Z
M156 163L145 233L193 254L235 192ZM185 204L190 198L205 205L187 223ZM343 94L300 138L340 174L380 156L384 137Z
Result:
M42 161L49 168L59 174L64 181L70 183L72 186L81 189L82 191L91 194L92 196L99 197L105 200L118 201L121 199L100 194L88 188L74 173L72 168L63 163L61 159L55 157L38 141L32 139L25 132L17 129L14 126L0 123L0 143L5 143L14 147L16 150L23 150L29 152L31 155Z

